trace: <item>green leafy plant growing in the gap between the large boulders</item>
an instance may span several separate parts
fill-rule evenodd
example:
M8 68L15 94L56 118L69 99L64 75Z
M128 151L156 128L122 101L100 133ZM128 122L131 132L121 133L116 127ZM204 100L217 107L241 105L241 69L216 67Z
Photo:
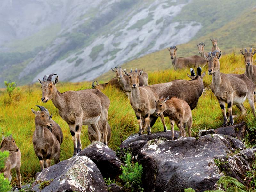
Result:
M138 162L135 164L132 163L132 154L127 153L125 158L125 165L121 166L122 174L119 175L119 178L125 183L124 188L130 191L144 191L141 187L142 181L142 165L139 165Z

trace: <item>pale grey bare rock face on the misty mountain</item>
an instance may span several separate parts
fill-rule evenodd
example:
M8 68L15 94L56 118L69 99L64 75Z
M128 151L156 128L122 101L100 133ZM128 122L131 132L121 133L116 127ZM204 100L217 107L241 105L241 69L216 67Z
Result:
M92 80L126 61L188 42L201 28L193 21L172 21L190 1L63 2L57 9L65 9L58 37L26 66L20 79L32 75L35 82L55 72L60 81Z

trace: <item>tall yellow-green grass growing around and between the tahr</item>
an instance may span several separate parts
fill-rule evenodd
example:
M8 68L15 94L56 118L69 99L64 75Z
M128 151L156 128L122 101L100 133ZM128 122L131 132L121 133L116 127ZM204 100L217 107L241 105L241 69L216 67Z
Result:
M159 54L159 52L158 52ZM147 57L150 57L147 56ZM228 54L224 55L220 59L221 71L225 73L244 73L244 60L241 55ZM136 65L137 66L137 65ZM135 66L132 66L135 68ZM203 68L203 71L207 70L207 66ZM149 73L149 84L157 84L163 82L169 82L174 79L188 79L186 73L189 73L189 69L183 69L173 71L172 69L161 70L157 72ZM196 135L200 129L215 129L222 125L222 113L217 99L214 97L212 91L209 89L212 76L206 75L204 77L205 92L202 94L198 101L197 107L192 111L193 116L193 132L192 135ZM79 90L90 88L91 82L81 83L62 83L59 82L57 88L60 92L67 90ZM108 87L103 92L111 100L108 122L112 128L112 138L110 140L109 147L116 150L121 144L122 140L125 140L130 134L138 132L137 119L134 111L129 103L128 98L120 91L113 87ZM36 172L40 171L39 161L34 153L32 144L32 134L35 130L34 118L35 115L31 112L31 108L37 110L35 105L43 105L50 113L53 113L53 120L55 120L62 128L64 141L61 145L60 160L68 159L73 154L73 142L69 132L68 124L59 116L57 108L52 104L52 101L46 104L41 102L41 89L40 84L36 83L30 86L20 87L19 91L10 99L4 89L0 90L0 122L1 130L4 134L12 133L16 140L17 145L22 153L21 161L21 174L22 183L32 181L32 177ZM252 111L248 102L245 102L245 107L248 109L248 115L238 116L235 118L235 123L245 120L250 127L252 134L255 137L255 123L256 120L252 115ZM233 107L233 114L239 115L240 111ZM170 129L170 124L166 120L167 127ZM163 126L160 120L157 120L156 124L152 128L152 132L162 131ZM175 125L175 129L177 129ZM254 135L253 135L254 134ZM87 136L87 126L83 126L82 129L82 146L86 147L90 142ZM246 142L250 139L248 135ZM247 142L247 144L249 144ZM13 172L12 183L16 183L16 178Z

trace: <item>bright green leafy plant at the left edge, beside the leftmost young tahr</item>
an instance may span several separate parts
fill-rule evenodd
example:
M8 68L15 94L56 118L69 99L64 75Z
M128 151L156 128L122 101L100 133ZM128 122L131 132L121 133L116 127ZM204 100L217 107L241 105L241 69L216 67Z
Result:
M4 151L4 152L0 151L0 170L4 168L4 162L5 162L5 159L8 157L8 155L9 155L8 151ZM11 186L10 186L9 180L4 178L4 173L1 173L0 174L0 192L6 192L10 190L11 190Z

